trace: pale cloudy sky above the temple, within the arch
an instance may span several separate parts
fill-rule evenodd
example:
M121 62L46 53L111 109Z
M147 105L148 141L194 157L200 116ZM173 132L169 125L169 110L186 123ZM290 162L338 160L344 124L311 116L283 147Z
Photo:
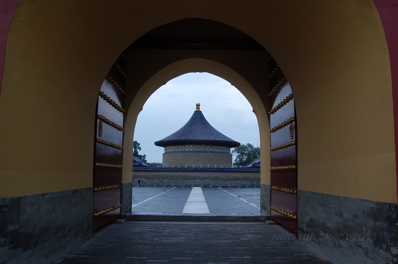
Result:
M153 143L176 132L195 111L195 104L219 132L241 144L260 146L253 108L230 83L208 73L190 73L170 80L156 90L137 118L134 140L148 162L162 162L164 149Z

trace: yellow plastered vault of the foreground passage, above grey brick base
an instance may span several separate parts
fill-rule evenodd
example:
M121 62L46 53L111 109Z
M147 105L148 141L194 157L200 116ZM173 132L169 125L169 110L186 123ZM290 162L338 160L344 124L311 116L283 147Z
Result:
M0 96L0 197L91 186L107 71L138 37L187 17L245 32L281 66L296 101L299 189L397 202L388 48L373 2L359 0L21 1Z

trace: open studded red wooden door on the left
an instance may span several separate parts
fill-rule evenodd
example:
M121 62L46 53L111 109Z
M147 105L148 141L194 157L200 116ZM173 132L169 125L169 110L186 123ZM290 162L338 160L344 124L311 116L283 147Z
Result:
M124 54L123 54L124 55ZM100 88L94 157L94 231L119 218L123 160L125 57L110 69Z

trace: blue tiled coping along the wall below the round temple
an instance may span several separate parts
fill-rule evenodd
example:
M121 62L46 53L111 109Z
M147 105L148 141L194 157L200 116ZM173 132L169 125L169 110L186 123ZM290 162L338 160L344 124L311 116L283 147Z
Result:
M214 172L214 173L259 173L260 168L156 168L133 167L133 172Z

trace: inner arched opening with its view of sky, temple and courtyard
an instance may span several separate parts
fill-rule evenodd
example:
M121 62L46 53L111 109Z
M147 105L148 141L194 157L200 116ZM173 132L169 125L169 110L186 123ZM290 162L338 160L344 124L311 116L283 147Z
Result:
M201 142L173 143L171 148L154 144L169 134L191 135ZM151 215L161 220L162 215L187 214L190 208L191 213L213 218L240 214L263 219L259 216L260 168L232 168L232 150L238 146L221 146L224 142L214 142L215 135L241 146L260 146L256 115L238 89L209 73L184 74L157 89L145 102L134 130L132 215L128 218L137 221ZM206 138L211 142L202 141ZM140 164L136 157L146 161ZM245 156L240 157L237 166L253 161L249 156L242 163ZM188 203L194 189L203 194L200 204L192 199Z

